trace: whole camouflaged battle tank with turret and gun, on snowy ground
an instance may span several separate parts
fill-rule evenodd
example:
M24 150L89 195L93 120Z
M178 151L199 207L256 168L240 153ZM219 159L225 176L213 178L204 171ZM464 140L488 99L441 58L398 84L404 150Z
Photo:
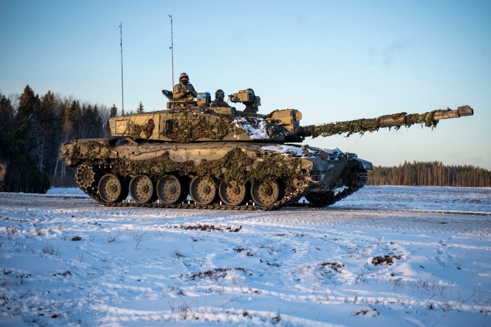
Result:
M209 93L167 110L109 119L111 138L62 144L59 159L76 167L75 182L106 206L274 210L325 207L367 182L372 163L339 149L301 144L305 137L347 136L379 128L473 115L468 105L423 114L301 126L294 109L258 114L252 89L229 95L235 107L211 107ZM130 198L128 198L130 195ZM299 200L306 199L299 203Z

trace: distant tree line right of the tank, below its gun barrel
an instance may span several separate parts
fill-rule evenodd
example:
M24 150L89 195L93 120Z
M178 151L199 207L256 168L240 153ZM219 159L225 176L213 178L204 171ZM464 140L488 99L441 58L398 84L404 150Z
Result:
M405 161L393 167L374 166L366 185L490 187L491 171L472 165Z

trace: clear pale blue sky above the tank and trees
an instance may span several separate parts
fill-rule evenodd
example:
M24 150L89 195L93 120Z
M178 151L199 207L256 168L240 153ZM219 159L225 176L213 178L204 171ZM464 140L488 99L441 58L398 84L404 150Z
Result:
M174 75L198 92L252 88L260 113L301 124L468 104L472 117L304 143L375 165L441 161L491 169L489 1L0 2L0 90L51 90L121 110L165 108ZM242 109L238 105L238 109Z

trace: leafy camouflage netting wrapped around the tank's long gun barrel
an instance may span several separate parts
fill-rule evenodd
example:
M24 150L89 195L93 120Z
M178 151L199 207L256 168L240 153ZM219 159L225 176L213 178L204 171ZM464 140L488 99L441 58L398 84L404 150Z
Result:
M407 113L399 113L392 116L394 121L399 122L397 125L387 126L389 129L394 127L399 129L401 126L410 127L414 124L421 124L421 127L424 125L426 127L431 127L432 129L436 127L438 124L438 120L435 120L436 113L444 113L448 112L447 110L434 110L432 112L423 113L423 114L407 114ZM371 118L371 119L357 119L351 121L337 122L337 123L329 123L322 125L310 125L305 127L300 127L300 130L305 131L306 135L311 135L312 138L317 136L328 137L332 135L342 135L347 134L346 137L349 137L352 134L365 134L365 132L374 132L377 131L380 127L383 126L383 121L381 121L382 117ZM308 134L308 135L307 135Z

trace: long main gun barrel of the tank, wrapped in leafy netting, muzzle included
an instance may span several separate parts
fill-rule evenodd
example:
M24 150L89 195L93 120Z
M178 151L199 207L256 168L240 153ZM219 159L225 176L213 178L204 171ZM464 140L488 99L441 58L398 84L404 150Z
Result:
M440 109L422 114L399 113L371 119L357 119L336 123L300 126L295 128L295 134L297 136L311 136L315 138L317 136L327 137L347 133L348 137L355 133L362 135L365 132L374 132L382 127L400 128L401 126L409 127L414 124L421 124L422 126L424 124L426 127L434 128L440 119L459 118L472 115L474 115L473 108L468 105L463 105L457 107L455 110L447 108L446 110Z

